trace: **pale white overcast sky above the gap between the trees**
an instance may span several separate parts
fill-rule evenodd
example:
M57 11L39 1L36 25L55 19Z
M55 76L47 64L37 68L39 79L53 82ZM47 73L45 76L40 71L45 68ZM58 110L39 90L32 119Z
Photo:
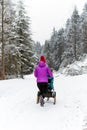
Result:
M87 0L24 0L31 19L33 40L41 44L50 39L53 27L65 27L76 6L79 14Z

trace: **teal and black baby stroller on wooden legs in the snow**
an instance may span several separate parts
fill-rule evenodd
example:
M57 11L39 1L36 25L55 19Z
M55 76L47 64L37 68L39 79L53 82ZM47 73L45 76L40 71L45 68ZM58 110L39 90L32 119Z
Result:
M54 80L53 78L48 77L48 91L45 94L45 98L47 98L47 101L49 100L49 98L53 98L54 99L53 104L56 104L56 92L54 90L53 80ZM44 101L40 95L40 91L37 92L36 103L39 103L39 102L40 102L41 106L43 106Z

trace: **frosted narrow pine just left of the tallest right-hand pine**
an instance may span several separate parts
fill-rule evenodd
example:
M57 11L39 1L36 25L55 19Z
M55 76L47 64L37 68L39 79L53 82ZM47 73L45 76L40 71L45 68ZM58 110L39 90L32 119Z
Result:
M72 29L71 19L66 22L66 28L64 30L64 44L62 53L62 64L61 67L67 66L73 62L73 47L72 47Z

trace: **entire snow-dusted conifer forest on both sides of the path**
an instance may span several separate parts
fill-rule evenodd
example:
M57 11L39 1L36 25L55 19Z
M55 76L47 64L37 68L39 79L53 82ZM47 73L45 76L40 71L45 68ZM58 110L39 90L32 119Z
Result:
M44 45L32 39L32 21L22 0L0 0L0 12L0 79L31 74L40 55L58 71L87 54L87 4L81 14L74 8L65 28L54 27Z

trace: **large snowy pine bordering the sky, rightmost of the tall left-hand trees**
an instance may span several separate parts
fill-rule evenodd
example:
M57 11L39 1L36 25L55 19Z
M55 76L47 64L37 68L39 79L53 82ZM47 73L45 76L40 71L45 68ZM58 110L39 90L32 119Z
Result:
M18 3L18 17L17 17L17 47L20 52L21 77L24 74L33 71L33 41L30 32L30 18L27 16L22 1Z

